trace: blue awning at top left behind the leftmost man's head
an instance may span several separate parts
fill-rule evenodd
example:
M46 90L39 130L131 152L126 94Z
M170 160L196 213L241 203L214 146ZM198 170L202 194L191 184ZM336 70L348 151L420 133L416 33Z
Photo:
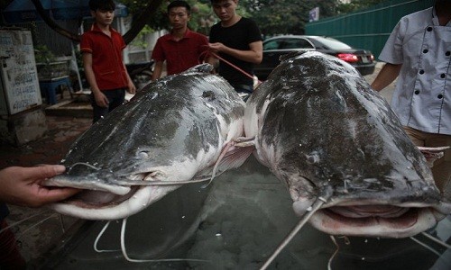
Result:
M90 17L89 0L41 0L45 13L54 20L74 20ZM2 12L7 24L42 21L31 0L14 0ZM126 17L128 9L116 3L115 16Z

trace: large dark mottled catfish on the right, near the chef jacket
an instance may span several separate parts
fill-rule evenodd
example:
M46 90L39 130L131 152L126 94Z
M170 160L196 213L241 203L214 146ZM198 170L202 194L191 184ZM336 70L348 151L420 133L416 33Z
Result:
M338 58L319 52L282 58L247 102L244 130L255 137L255 156L287 185L299 215L326 191L323 208L343 213L343 206L354 207L357 213L348 216L385 211L381 205L430 210L422 214L424 224L402 229L390 228L398 226L393 222L377 227L380 217L372 217L371 229L345 228L351 225L318 211L310 222L327 233L407 237L449 213L425 158L390 105Z

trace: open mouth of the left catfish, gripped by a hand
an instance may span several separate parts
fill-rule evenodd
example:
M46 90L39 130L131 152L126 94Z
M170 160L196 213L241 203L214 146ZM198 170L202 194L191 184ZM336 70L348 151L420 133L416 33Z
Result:
M150 181L140 175L134 177L136 178L121 178L107 182L105 178L102 182L100 179L93 181L96 179L86 177L78 179L82 181L77 181L74 176L68 175L50 179L46 185L70 186L82 190L65 201L51 204L50 207L61 214L85 220L118 220L142 211L165 194L179 188L179 184L160 184L167 181L156 179Z

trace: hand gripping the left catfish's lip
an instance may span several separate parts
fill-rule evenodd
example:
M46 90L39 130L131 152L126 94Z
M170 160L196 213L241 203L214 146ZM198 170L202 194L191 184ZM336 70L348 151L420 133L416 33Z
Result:
M78 193L75 188L46 187L41 182L60 175L66 170L62 165L10 166L0 170L0 201L16 205L40 207L59 202Z

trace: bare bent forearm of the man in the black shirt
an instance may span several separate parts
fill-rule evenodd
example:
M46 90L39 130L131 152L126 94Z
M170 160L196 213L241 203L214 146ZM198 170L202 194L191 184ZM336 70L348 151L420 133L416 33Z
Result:
M232 49L224 45L223 43L209 43L208 47L210 51L218 53L226 53L234 58L253 63L260 64L263 58L263 43L262 40L254 41L249 43L248 50ZM209 59L208 59L209 62Z

